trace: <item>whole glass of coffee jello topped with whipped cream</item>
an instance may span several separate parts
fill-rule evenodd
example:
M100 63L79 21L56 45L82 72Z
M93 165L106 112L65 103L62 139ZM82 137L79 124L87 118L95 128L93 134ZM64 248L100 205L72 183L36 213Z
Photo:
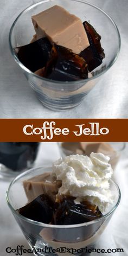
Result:
M108 161L102 153L71 155L10 184L8 205L35 255L69 255L69 248L81 255L96 248L120 202Z

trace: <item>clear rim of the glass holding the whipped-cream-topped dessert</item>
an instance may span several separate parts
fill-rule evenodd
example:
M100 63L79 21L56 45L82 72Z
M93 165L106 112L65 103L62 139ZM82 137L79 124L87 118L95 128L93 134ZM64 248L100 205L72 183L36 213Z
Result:
M16 215L17 217L19 217L20 219L22 219L23 221L26 221L26 222L29 222L31 224L34 224L36 226L41 226L41 227L47 227L47 228L79 228L79 227L84 227L84 226L89 226L93 223L96 223L100 220L104 220L106 217L110 216L114 210L116 210L116 208L118 207L118 204L120 202L120 199L121 199L121 193L120 193L120 189L119 189L119 186L116 182L114 182L112 179L110 179L110 182L114 185L114 187L116 187L117 191L118 191L118 200L116 201L116 203L114 204L114 206L112 207L112 209L107 213L105 214L104 216L102 217L99 217L98 219L95 219L93 221L89 221L89 222L84 222L84 223L80 223L80 224L74 224L74 225L52 225L52 224L46 224L46 223L43 223L43 222L39 222L39 221L34 221L34 220L31 220L31 219L28 219L27 217L24 217L23 215L21 215L20 213L16 212L16 210L14 209L14 207L12 207L11 203L10 203L10 200L9 200L9 192L10 192L10 188L12 187L12 185L20 180L20 178L22 178L23 176L25 176L26 174L29 174L31 171L35 171L37 169L51 169L52 167L48 167L48 166L42 166L42 167L38 167L38 168L32 168L28 171L24 171L22 172L22 174L18 175L17 177L14 178L14 180L10 183L9 185L9 188L7 189L7 192L6 192L6 201L8 203L8 206L11 210L11 212Z

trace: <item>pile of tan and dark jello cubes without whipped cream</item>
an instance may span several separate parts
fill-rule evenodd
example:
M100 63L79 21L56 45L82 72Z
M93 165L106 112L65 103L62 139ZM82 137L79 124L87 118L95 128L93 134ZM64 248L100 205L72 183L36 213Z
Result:
M53 7L32 16L36 35L31 43L16 47L18 59L31 72L56 81L87 79L105 54L101 36L87 21Z

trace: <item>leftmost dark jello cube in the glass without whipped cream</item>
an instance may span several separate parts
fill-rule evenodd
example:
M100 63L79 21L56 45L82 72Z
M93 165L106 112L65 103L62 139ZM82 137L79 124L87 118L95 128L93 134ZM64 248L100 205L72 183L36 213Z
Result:
M52 44L46 37L25 46L15 48L18 59L31 72L35 72L46 66L51 50Z

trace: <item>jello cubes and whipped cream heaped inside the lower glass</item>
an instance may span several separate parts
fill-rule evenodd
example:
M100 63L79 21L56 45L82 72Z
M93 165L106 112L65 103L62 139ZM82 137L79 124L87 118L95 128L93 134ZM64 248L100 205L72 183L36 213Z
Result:
M113 203L109 157L101 153L67 156L53 171L24 181L28 204L18 213L53 225L74 225L104 216Z

